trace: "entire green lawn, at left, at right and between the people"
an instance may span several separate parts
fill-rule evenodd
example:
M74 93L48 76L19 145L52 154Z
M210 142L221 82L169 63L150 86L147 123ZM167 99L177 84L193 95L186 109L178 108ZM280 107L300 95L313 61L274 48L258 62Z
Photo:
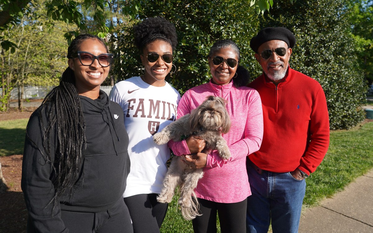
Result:
M0 156L22 154L28 119L0 121ZM317 205L373 167L373 122L350 130L330 132L329 150L317 170L307 178L304 206ZM169 204L161 233L193 232L191 221L185 221L177 206L176 195ZM220 232L220 229L218 230Z

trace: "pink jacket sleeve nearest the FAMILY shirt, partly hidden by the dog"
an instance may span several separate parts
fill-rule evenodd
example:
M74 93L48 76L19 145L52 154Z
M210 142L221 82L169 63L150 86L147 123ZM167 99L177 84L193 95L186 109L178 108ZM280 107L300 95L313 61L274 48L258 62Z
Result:
M188 107L188 106L190 106L188 104L189 101L186 100L187 96L188 96L188 93L185 92L185 94L183 95L183 97L181 97L181 100L179 101L178 112L177 112L176 119L179 119L180 117L184 116L185 114L190 113L190 107ZM175 142L173 140L170 140L167 143L167 145L172 150L173 154L175 154L175 155L180 156L180 155L190 154L190 151L189 151L188 145L185 142L185 139L182 140L182 141L179 141L179 142Z

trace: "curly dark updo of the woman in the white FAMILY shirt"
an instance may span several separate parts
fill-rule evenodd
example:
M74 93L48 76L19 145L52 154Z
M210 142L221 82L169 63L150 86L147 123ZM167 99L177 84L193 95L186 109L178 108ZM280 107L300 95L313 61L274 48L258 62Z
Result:
M178 35L175 26L161 17L147 18L134 26L135 46L141 51L155 40L163 40L169 43L172 50L178 44Z

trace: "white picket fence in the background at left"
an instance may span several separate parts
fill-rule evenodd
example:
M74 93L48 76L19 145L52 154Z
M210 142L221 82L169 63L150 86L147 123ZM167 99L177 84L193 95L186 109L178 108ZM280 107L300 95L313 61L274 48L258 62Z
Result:
M44 99L48 92L53 89L54 86L24 86L23 87L23 99L29 100L39 100ZM101 90L106 92L109 95L112 90L112 86L101 86ZM0 88L0 95L2 93L2 88ZM18 100L18 88L13 88L10 92L10 100Z

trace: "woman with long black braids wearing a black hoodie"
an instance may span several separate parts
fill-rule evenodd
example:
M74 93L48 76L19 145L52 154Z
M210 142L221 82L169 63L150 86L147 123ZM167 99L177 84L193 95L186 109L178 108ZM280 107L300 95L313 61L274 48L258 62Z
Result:
M60 85L26 129L27 232L132 232L122 199L130 167L123 111L100 90L113 54L100 38L84 34L67 57Z

